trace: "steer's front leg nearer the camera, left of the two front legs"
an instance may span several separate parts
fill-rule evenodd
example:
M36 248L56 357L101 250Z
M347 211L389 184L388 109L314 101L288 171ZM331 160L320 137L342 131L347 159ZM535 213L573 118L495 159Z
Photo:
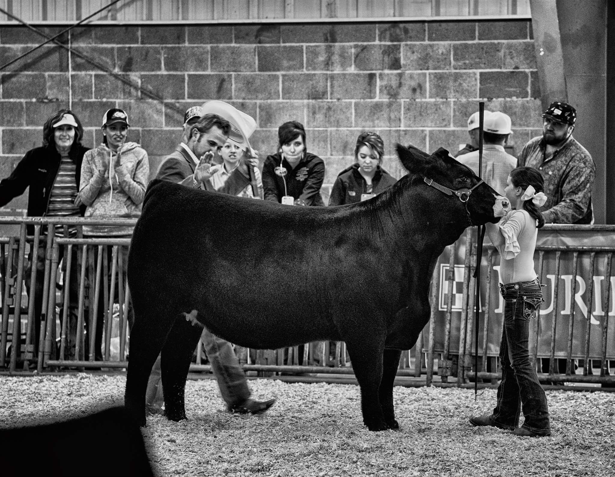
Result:
M378 388L383 375L383 350L374 343L346 342L354 375L361 388L363 423L370 431L384 431L389 425L378 398Z

